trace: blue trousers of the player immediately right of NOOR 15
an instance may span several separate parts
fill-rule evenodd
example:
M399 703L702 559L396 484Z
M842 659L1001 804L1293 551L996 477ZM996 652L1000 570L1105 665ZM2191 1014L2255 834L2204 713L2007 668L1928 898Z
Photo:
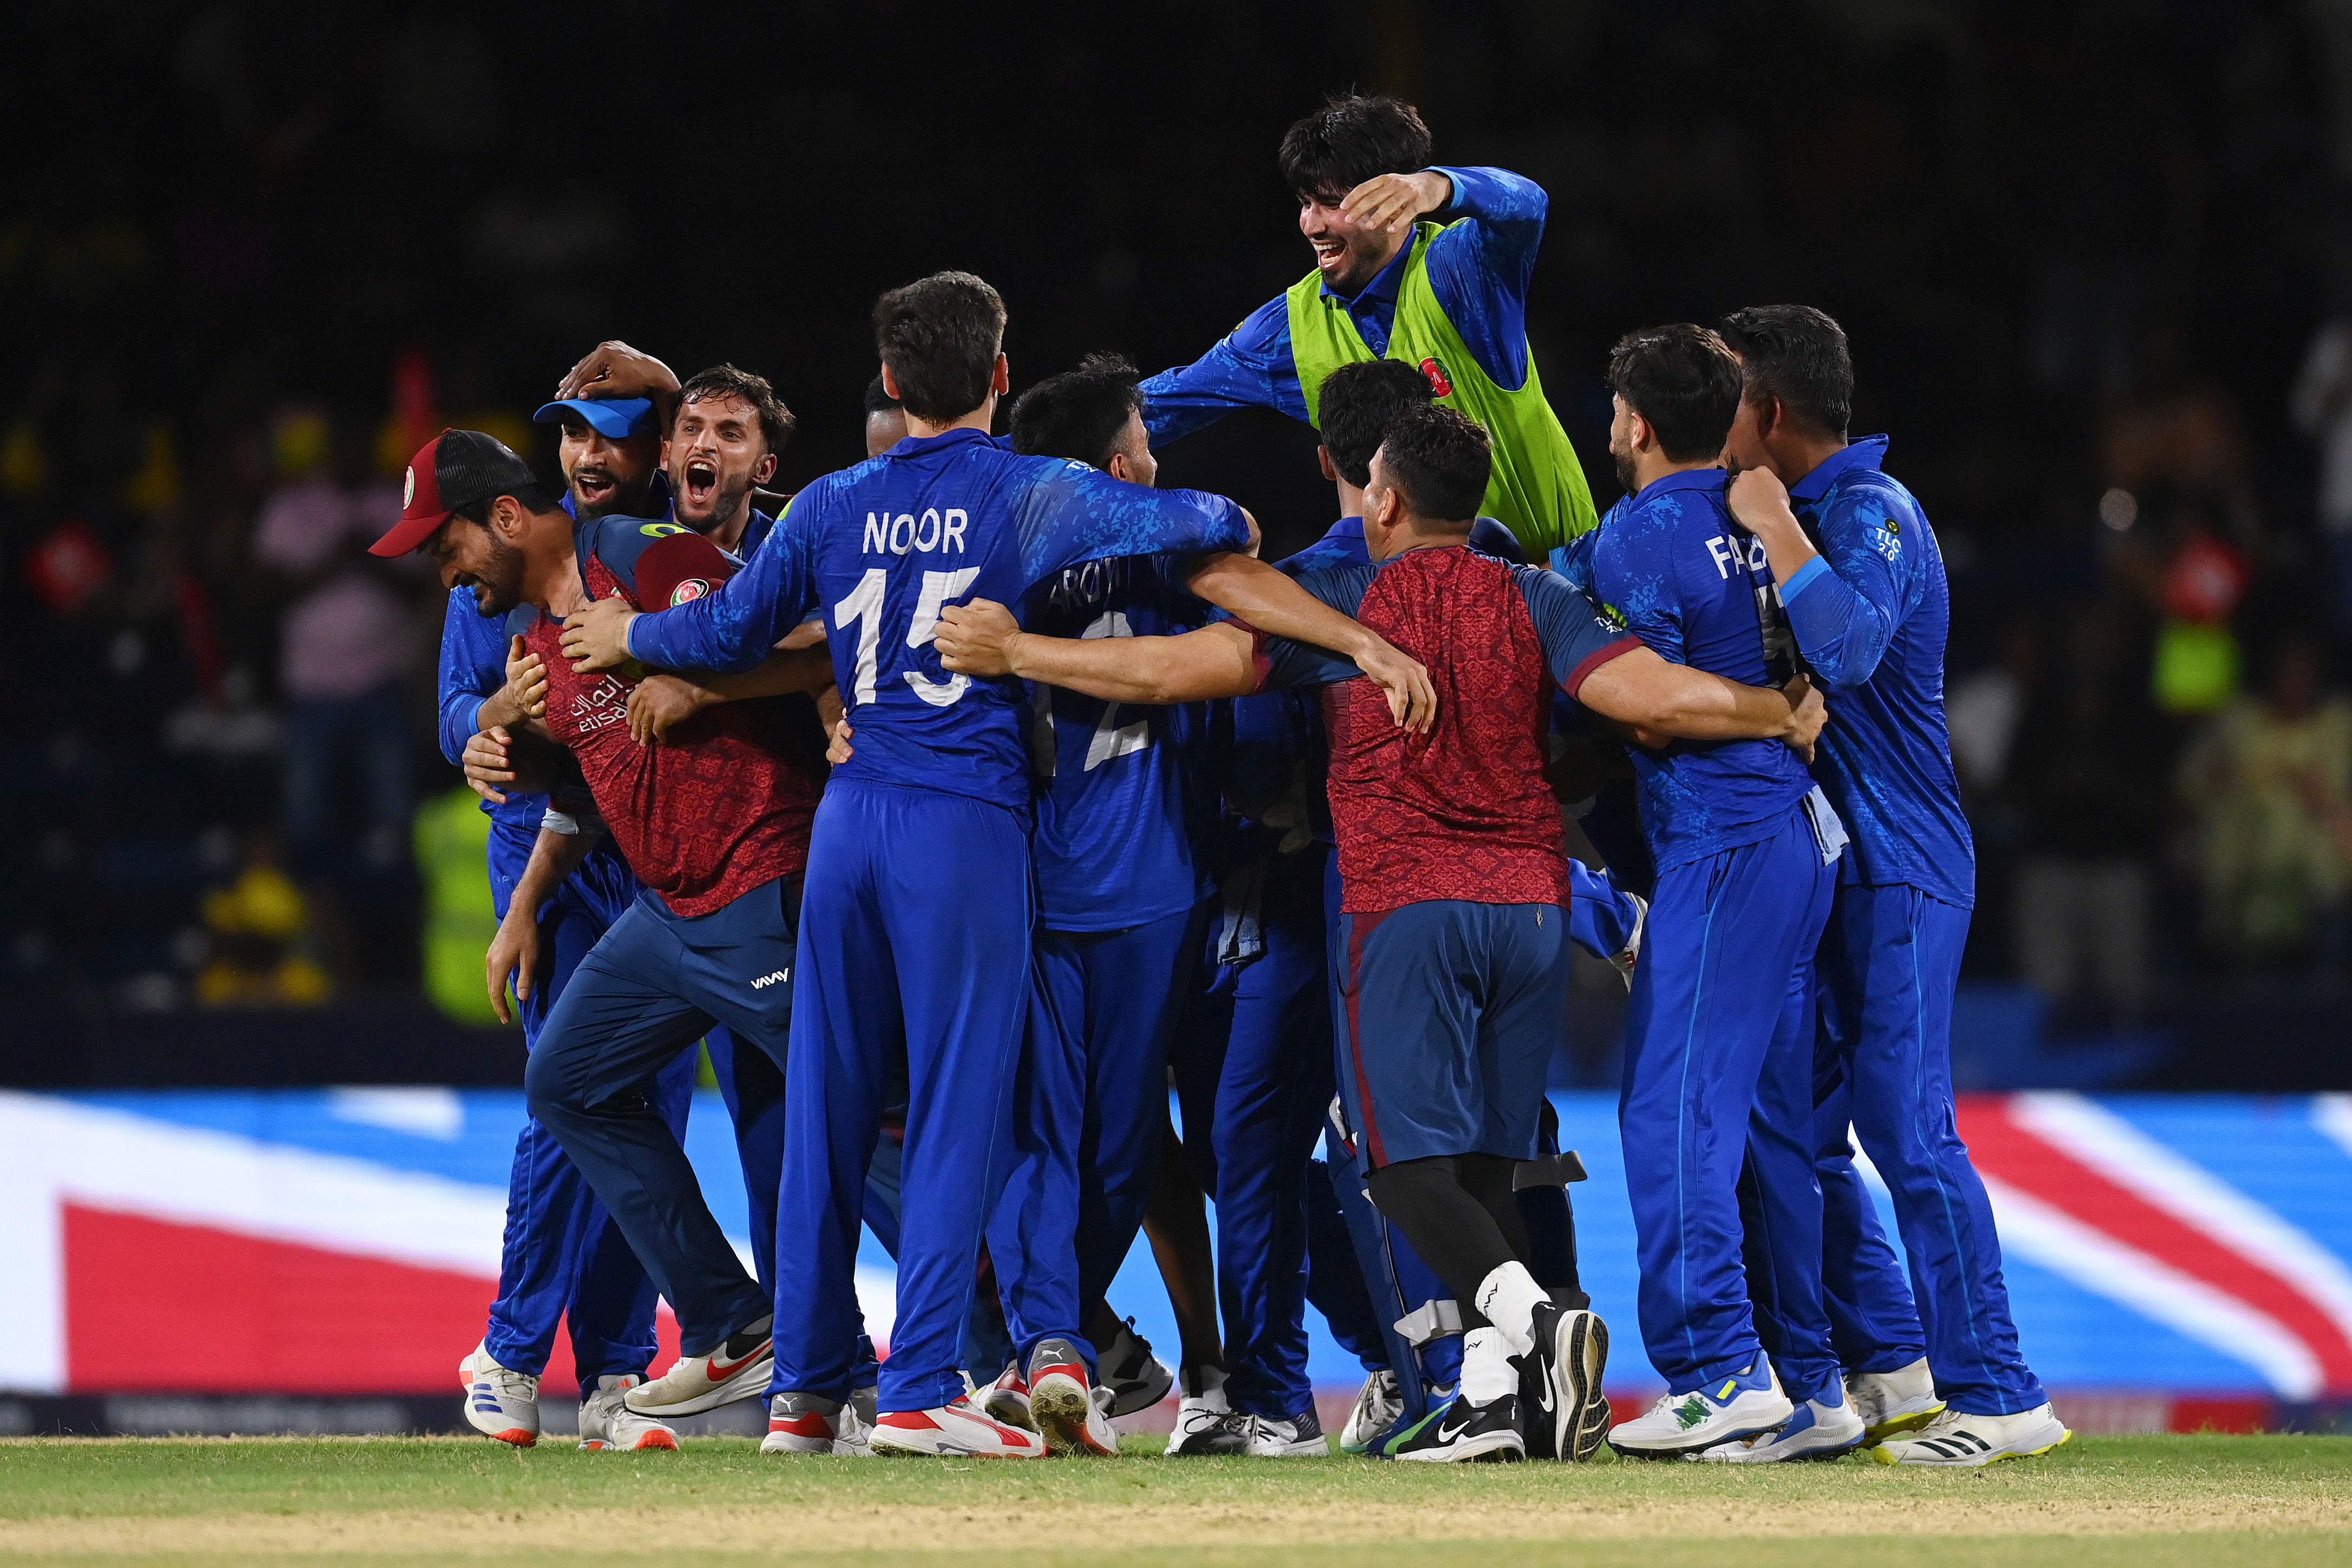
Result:
M1004 1326L1028 1361L1080 1354L1160 1173L1169 1039L1200 973L1207 905L1124 931L1037 931L1011 1147L988 1218Z

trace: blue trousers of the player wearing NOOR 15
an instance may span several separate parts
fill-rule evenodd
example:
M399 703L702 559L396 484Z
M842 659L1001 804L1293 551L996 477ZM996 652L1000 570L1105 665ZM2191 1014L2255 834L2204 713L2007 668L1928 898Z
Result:
M835 778L816 809L786 1067L776 1385L844 1399L854 1267L891 1056L906 1048L898 1316L882 1410L964 1392L990 1178L1002 1173L1030 1001L1030 863L1018 816L962 795Z

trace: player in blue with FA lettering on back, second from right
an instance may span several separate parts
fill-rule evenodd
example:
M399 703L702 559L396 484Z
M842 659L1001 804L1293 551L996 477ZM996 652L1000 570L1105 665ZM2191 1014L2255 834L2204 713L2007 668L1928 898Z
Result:
M1792 651L1771 574L1731 524L1717 465L1738 409L1738 362L1703 327L1656 327L1618 341L1609 386L1609 454L1625 501L1592 536L1595 597L1665 658L1738 682L1783 679ZM1844 1408L1818 1288L1811 1298L1804 1281L1780 1288L1783 1347L1766 1356L1740 1274L1736 1194L1750 1147L1776 1178L1802 1166L1804 1192L1776 1185L1773 1234L1790 1237L1797 1255L1806 1237L1818 1251L1820 1199L1804 1147L1806 964L1844 835L1804 759L1783 745L1637 745L1632 764L1658 882L1625 1016L1618 1119L1642 1338L1668 1396L1609 1441L1670 1458L1788 1422L1780 1378L1799 1399Z

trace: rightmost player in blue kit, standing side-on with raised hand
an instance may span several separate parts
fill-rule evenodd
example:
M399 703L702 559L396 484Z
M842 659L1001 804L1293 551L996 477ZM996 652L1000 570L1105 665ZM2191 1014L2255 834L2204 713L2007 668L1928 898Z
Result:
M2049 1453L2067 1429L2018 1352L1992 1206L1952 1112L1976 849L1943 717L1943 552L1919 501L1884 473L1886 437L1846 440L1853 362L1837 322L1811 306L1755 306L1726 315L1722 334L1743 371L1731 515L1762 541L1797 649L1839 698L1813 769L1853 849L1816 961L1813 1093L1820 1265L1846 1389L1872 1443L1926 1427L1882 1458ZM1917 1302L1849 1131L1893 1192ZM1776 1436L1726 1458L1792 1448Z

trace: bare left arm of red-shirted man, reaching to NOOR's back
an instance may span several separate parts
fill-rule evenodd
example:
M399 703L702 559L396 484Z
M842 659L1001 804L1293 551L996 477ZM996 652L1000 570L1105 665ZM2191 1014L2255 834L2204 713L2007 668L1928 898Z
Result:
M1258 689L1256 639L1232 623L1183 637L1040 637L995 599L938 611L938 663L957 675L1044 682L1110 703L1200 703Z

